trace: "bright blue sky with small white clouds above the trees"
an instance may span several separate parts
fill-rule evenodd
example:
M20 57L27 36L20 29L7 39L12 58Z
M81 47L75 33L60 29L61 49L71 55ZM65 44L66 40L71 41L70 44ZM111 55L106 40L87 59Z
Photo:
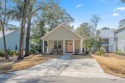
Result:
M74 18L75 28L83 22L91 23L92 15L95 14L102 19L98 29L117 29L119 21L125 18L125 3L120 0L61 0L60 6Z

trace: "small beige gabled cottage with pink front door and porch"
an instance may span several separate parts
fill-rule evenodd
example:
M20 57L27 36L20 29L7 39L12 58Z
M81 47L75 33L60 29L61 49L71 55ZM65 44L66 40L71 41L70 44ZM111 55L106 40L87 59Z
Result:
M43 53L82 53L82 37L64 25L60 25L41 38L47 41L47 49L43 43Z

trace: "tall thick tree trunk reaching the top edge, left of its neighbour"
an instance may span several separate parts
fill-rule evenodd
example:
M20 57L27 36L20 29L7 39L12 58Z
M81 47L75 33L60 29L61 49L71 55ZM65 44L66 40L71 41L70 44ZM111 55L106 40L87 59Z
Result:
M20 49L19 49L19 55L17 60L24 59L23 46L24 46L24 34L25 34L25 25L26 25L26 11L27 11L27 0L24 0L22 27L21 27L21 33L20 33Z

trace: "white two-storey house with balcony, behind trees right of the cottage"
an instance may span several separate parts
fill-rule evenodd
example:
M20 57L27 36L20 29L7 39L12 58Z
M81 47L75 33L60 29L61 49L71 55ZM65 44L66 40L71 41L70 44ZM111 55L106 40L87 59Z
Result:
M106 52L114 52L114 30L100 30L99 36L102 40L102 47L106 49Z

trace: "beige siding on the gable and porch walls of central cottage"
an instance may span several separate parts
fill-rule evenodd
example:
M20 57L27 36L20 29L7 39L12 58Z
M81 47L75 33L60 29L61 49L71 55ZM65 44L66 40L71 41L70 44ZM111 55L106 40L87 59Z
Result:
M48 41L48 53L52 52L52 49L54 48L54 41L60 41L60 40L61 41L65 40L65 45L62 45L62 47L65 47L63 48L63 53L68 52L68 42L73 43L73 40L74 40L73 53L77 49L80 51L80 53L82 53L81 52L82 48L80 47L80 44L81 44L80 40L82 40L82 37L72 32L71 30L69 30L63 25L56 27L41 39L44 41Z

